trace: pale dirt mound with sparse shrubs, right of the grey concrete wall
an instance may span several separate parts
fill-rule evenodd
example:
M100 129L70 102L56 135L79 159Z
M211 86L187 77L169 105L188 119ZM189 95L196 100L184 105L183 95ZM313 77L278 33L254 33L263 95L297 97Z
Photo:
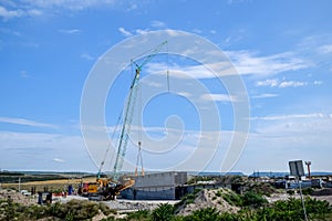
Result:
M240 208L231 206L221 196L221 193L229 193L229 189L204 189L196 194L194 203L183 203L178 208L178 214L187 215L193 211L200 210L204 208L216 208L219 212L236 213Z

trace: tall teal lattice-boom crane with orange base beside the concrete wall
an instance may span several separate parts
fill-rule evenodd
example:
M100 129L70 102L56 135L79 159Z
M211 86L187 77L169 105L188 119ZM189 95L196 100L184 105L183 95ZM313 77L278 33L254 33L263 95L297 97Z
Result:
M123 162L124 162L127 143L128 143L128 138L129 138L131 126L132 126L133 115L134 115L134 107L135 107L137 91L138 91L138 85L139 85L139 75L141 75L141 72L142 72L142 69L144 67L144 65L146 65L162 50L162 48L165 44L167 44L167 41L162 42L159 45L154 48L152 51L147 52L148 55L145 56L145 59L139 64L138 64L138 60L137 61L132 60L132 63L135 65L135 75L131 83L129 94L128 94L126 105L125 105L125 108L123 112L123 125L121 128L117 151L116 151L116 158L115 158L115 162L114 162L114 167L113 167L113 175L112 175L112 178L110 178L110 179L101 179L102 168L105 164L105 159L106 159L106 156L107 156L110 147L111 147L111 143L110 143L110 145L106 149L105 156L103 158L103 161L101 162L101 166L98 168L96 182L91 183L91 186L87 186L85 189L83 188L83 192L85 190L85 192L87 192L87 196L96 196L96 197L101 197L103 199L115 199L115 194L118 194L120 191L122 191L128 187L132 187L135 183L135 181L133 179L124 179L123 177L122 177L122 179L120 179L120 173L123 168ZM120 119L121 119L121 117L118 118L116 126L118 126ZM114 131L116 131L116 129ZM141 144L142 144L141 140L138 140L139 149L138 149L137 161L138 161L138 159L141 159L141 162L142 162ZM143 162L142 162L142 170L143 170ZM136 168L135 173L137 173L137 168ZM82 186L83 185L84 183L82 183Z

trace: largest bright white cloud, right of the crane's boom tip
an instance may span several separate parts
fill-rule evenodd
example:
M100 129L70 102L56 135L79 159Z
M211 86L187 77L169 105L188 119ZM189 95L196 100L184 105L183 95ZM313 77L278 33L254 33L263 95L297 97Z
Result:
M240 74L273 75L307 69L311 65L290 52L268 56L257 56L250 51L227 51L226 54L229 55Z

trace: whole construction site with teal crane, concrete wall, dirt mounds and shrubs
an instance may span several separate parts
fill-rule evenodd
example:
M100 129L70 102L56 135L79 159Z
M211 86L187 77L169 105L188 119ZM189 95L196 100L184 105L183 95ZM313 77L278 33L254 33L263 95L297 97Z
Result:
M158 210L168 210L168 215L178 219L191 220L190 215L206 212L206 220L235 220L258 219L264 208L278 207L274 202L307 204L323 203L323 214L309 210L313 218L332 218L332 175L311 175L311 161L305 161L304 172L302 160L290 162L290 173L286 176L270 176L253 172L251 176L239 173L206 175L193 171L160 170L153 171L144 168L142 130L136 139L133 139L131 128L135 112L139 104L139 78L141 72L167 45L167 41L153 48L143 59L131 61L133 78L131 80L128 94L120 113L117 125L110 135L110 144L102 148L101 160L97 161L98 170L95 173L24 173L1 171L0 176L0 220L39 220L59 218L60 220L131 220L132 214L141 214L145 211L146 219L158 215ZM168 71L166 72L168 80ZM169 88L169 81L166 81ZM138 98L137 98L138 96ZM138 104L137 103L138 99ZM128 143L137 149L134 171L124 171L124 161ZM134 144L134 145L133 145ZM113 151L112 151L112 148ZM110 152L115 152L111 156ZM114 158L114 161L111 160ZM105 171L104 166L111 165L112 171ZM205 172L205 171L203 171ZM302 191L308 198L303 198ZM293 197L293 198L292 198ZM322 202L321 202L322 201ZM29 208L39 204L40 214L32 212L20 213L17 204ZM63 207L62 209L59 209ZM84 211L77 208L85 208ZM94 212L87 212L95 208ZM168 209L167 209L168 208ZM251 212L247 212L250 210ZM27 209L29 211L29 209ZM243 212L245 211L245 212ZM272 211L272 209L271 209ZM274 210L273 210L274 211ZM305 208L304 220L307 220ZM136 212L136 213L135 213ZM84 218L79 217L86 213ZM39 217L38 217L39 214ZM72 217L69 217L72 215ZM219 219L217 217L219 215ZM222 217L224 215L224 217ZM227 217L228 215L228 217ZM246 217L247 215L247 217ZM256 218L250 215L257 215ZM295 214L295 218L301 214ZM172 218L172 219L173 219ZM153 220L172 220L165 217ZM203 219L203 218L201 218ZM198 219L198 220L201 220ZM267 219L264 217L264 219ZM277 220L282 220L278 218ZM136 220L136 218L132 219ZM139 219L141 220L141 219ZM196 219L197 220L197 219ZM268 219L269 220L269 219Z

